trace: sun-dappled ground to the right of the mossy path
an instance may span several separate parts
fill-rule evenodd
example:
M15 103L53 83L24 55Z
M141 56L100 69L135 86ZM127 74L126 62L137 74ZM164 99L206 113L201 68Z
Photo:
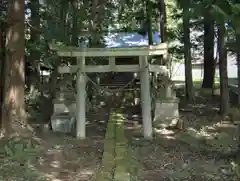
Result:
M135 155L142 165L142 181L240 180L233 160L218 159L236 148L238 127L220 119L217 97L206 100L198 98L194 106L181 100L183 131L159 129L153 141L135 141L140 142Z

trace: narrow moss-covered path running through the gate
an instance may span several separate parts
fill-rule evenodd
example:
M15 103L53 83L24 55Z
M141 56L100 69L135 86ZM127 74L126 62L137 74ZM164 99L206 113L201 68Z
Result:
M96 181L130 181L129 158L127 139L124 135L124 118L111 110L105 134L102 165Z

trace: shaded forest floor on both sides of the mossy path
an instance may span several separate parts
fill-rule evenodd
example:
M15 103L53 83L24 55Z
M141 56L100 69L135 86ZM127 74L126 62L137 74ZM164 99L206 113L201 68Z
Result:
M206 101L207 100L207 101ZM185 129L181 132L155 130L154 139L138 137L138 125L126 126L129 139L129 172L132 181L238 181L240 169L233 160L217 155L237 145L237 127L221 122L218 100L199 98L193 105L180 104ZM87 125L87 139L38 131L34 144L17 138L0 141L0 180L91 181L101 165L106 111ZM125 180L124 180L125 181Z

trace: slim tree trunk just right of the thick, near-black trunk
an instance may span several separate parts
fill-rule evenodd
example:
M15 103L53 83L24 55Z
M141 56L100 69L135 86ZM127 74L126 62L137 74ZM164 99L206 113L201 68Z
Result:
M218 26L219 41L219 72L220 72L220 113L225 115L229 109L229 91L227 74L227 51L225 48L225 24L224 21Z

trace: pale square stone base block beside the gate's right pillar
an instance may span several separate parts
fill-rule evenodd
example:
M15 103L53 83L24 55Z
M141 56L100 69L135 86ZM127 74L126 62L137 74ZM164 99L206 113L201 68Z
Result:
M154 126L167 127L179 118L178 99L160 100L156 102Z

